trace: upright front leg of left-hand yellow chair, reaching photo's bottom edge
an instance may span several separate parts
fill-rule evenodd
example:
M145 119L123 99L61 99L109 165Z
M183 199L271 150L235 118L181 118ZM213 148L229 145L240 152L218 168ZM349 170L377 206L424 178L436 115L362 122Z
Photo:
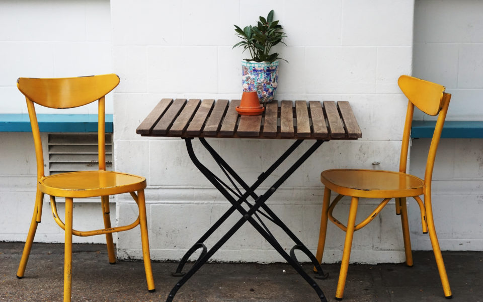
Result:
M72 198L65 197L64 302L70 302L72 289Z

